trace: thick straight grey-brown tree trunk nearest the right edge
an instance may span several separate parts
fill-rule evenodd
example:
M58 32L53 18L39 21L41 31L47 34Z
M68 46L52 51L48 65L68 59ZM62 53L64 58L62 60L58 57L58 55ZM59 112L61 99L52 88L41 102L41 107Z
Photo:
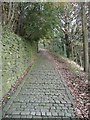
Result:
M84 51L84 71L88 72L88 31L87 18L85 14L85 3L81 3L81 18L82 18L82 36L83 36L83 51Z

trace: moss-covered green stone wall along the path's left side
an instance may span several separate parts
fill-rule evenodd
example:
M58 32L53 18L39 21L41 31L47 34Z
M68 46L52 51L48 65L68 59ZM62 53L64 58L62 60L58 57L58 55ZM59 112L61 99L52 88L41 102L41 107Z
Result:
M2 95L4 96L36 57L36 46L3 28Z

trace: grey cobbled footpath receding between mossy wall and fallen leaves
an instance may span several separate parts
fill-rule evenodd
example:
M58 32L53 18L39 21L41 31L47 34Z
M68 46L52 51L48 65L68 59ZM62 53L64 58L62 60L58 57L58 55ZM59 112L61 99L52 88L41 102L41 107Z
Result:
M3 108L3 117L74 120L73 100L65 84L54 62L44 52L39 53L35 65Z

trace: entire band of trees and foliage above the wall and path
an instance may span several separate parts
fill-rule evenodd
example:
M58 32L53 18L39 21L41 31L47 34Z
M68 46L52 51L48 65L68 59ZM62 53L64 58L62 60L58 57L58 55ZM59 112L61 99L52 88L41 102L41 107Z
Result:
M44 43L49 43L54 51L86 67L86 64L88 66L86 48L90 36L89 4L89 2L4 2L2 24L31 42L42 39ZM88 67L85 71L88 71Z

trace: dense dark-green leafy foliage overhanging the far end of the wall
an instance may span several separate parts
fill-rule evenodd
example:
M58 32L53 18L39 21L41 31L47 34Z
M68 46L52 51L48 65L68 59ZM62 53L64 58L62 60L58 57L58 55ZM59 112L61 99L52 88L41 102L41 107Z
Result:
M53 33L56 19L52 3L30 3L25 20L25 38L38 41ZM48 35L47 35L48 34Z

